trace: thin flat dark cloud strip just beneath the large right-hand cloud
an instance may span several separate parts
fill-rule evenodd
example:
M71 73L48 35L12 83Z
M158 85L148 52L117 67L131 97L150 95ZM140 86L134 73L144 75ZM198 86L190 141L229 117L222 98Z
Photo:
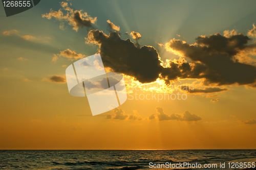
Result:
M214 93L214 92L221 92L226 91L226 88L219 88L219 87L205 87L204 89L199 88L190 88L188 86L182 86L181 89L186 91L187 93Z

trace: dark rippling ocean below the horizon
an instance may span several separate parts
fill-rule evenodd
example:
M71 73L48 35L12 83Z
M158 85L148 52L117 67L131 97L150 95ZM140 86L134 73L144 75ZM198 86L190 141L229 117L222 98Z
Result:
M0 150L0 169L178 169L184 162L184 169L246 169L256 150Z

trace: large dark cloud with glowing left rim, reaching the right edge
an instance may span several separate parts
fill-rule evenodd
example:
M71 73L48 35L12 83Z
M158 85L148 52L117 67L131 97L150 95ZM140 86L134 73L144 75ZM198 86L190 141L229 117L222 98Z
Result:
M244 85L255 82L256 67L240 63L234 56L255 48L256 44L249 44L249 40L243 34L225 37L218 33L209 37L200 36L194 45L173 39L166 43L166 50L180 53L195 64L185 66L187 71L183 78L205 78L205 85ZM191 66L193 69L190 69ZM173 76L171 72L169 74ZM169 74L166 74L167 78ZM180 77L179 70L175 75Z

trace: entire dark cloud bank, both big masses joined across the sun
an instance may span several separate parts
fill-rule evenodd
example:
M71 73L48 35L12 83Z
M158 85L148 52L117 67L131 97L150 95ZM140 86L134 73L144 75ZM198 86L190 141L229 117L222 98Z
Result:
M240 52L255 48L248 44L250 38L239 35L196 38L196 44L171 40L166 43L167 50L178 52L191 60L168 61L166 67L161 65L157 50L152 46L136 46L130 39L123 40L117 32L110 35L99 30L88 34L87 43L99 45L104 66L115 72L133 76L141 83L164 79L166 84L177 78L205 79L204 85L239 85L251 84L256 79L256 67L240 63L234 59Z

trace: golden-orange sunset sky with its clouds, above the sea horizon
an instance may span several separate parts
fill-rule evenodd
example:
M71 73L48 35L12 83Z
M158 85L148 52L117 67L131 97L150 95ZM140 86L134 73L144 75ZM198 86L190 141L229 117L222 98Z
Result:
M0 149L256 149L255 5L41 1L10 17L0 5ZM65 74L96 53L127 100L92 116Z

